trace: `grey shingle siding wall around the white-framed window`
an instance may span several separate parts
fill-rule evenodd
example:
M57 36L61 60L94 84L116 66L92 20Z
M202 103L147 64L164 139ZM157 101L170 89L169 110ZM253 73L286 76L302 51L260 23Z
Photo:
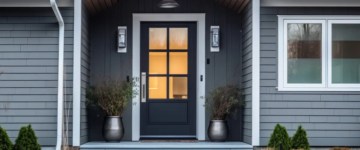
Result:
M360 15L360 11L346 7L260 8L260 145L267 144L275 124L280 123L287 128L289 136L302 124L311 146L360 146L359 92L275 89L278 71L276 15Z

